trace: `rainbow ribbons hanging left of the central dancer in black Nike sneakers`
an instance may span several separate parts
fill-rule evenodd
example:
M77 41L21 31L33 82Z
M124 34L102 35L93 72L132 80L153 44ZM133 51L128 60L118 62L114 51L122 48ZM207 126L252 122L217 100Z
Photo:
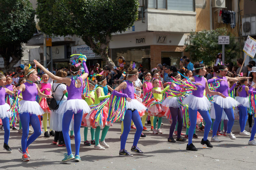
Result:
M123 121L126 111L126 99L111 94L108 105L108 122Z

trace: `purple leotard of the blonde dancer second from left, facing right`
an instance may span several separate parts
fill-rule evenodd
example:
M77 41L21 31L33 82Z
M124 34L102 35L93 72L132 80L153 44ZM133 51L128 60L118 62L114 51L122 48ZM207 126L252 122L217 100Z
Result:
M35 83L24 83L25 85L25 90L22 93L22 98L23 100L28 100L28 101L36 101L36 95L37 95L37 87Z

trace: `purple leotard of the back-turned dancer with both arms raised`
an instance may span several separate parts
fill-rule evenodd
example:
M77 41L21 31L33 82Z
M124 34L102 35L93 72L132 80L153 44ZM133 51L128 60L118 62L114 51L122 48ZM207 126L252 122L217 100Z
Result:
M75 86L75 80L71 79L71 83L69 86L67 86L67 91L68 91L68 99L82 99L82 91L83 91L83 79L81 77L77 78L78 80L81 81L81 86L79 88L76 88Z

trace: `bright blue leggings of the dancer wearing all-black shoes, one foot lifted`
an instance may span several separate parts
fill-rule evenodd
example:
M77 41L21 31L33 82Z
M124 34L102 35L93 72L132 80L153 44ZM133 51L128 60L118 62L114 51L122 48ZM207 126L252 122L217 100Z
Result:
M188 114L189 114L189 120L190 120L190 126L188 129L188 145L192 143L192 138L194 134L194 130L196 128L196 118L197 118L197 111L200 113L200 115L203 117L205 121L204 125L204 140L207 140L208 134L210 132L211 126L212 126L212 120L209 114L209 111L204 110L193 110L190 107L188 107ZM219 124L218 124L219 125Z

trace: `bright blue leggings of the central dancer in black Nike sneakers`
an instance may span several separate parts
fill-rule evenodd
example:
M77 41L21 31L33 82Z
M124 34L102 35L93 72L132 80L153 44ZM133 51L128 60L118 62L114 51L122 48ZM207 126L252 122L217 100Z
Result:
M142 123L140 120L140 115L137 110L133 110L133 111L126 110L125 115L124 115L124 120L123 120L124 131L121 136L121 148L120 148L121 150L125 149L125 143L126 143L128 134L131 130L131 122L132 121L134 122L134 124L136 126L136 132L134 135L133 146L137 146L138 141L140 139L140 135L143 130L143 126L142 126Z

